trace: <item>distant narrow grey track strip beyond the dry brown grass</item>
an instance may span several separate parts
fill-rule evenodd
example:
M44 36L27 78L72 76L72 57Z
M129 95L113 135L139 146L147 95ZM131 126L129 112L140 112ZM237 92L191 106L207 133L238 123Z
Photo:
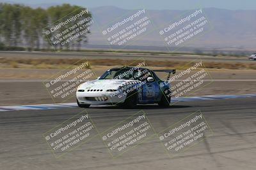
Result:
M24 58L61 58L61 59L83 59L86 57L87 59L122 59L122 60L129 60L133 59L136 60L138 58L143 58L147 60L195 60L200 57L204 62L243 62L243 63L255 63L253 60L249 60L245 57L210 57L204 55L154 55L147 54L141 55L140 53L81 53L81 52L0 52L0 57L19 57L19 59Z

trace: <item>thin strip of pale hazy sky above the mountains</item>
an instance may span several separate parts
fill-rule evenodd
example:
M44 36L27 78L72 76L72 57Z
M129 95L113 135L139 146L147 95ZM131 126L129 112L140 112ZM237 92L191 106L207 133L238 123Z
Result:
M195 9L198 4L203 8L224 8L228 10L256 10L256 0L6 0L7 2L23 4L61 4L70 3L88 8L98 6L117 6L124 9L134 9L138 7L138 2L142 3L146 9L153 10L187 10ZM6 2L0 0L0 2Z

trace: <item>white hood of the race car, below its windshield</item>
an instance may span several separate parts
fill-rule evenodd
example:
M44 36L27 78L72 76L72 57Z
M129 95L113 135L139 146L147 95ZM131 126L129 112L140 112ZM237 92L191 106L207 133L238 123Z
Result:
M138 80L93 80L83 83L79 86L79 90L109 90L109 89L118 89L122 85L127 83L140 82Z

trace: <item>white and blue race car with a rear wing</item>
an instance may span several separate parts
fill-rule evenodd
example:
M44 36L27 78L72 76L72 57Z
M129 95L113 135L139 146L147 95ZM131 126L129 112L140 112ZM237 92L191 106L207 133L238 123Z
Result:
M165 81L155 72L168 73ZM150 70L143 67L116 67L109 69L97 80L77 87L77 105L88 108L95 105L117 105L134 108L137 104L170 106L170 75L175 69Z

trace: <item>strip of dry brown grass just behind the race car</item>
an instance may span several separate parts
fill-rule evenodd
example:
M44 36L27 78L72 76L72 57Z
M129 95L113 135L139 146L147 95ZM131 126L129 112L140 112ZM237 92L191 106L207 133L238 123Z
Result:
M132 62L140 62L138 60L120 60L120 59L90 59L88 60L92 66L130 66ZM63 69L63 67L76 66L77 64L84 62L79 59L6 59L0 60L1 67L11 68L35 68L35 69ZM142 60L141 60L142 62ZM74 65L74 63L77 63ZM156 61L148 60L147 65L151 67L168 67L168 68L184 68L193 66L195 63L180 61ZM134 64L136 65L136 64ZM186 65L186 67L184 67ZM206 68L211 69L256 69L255 63L228 63L228 62L204 62Z

